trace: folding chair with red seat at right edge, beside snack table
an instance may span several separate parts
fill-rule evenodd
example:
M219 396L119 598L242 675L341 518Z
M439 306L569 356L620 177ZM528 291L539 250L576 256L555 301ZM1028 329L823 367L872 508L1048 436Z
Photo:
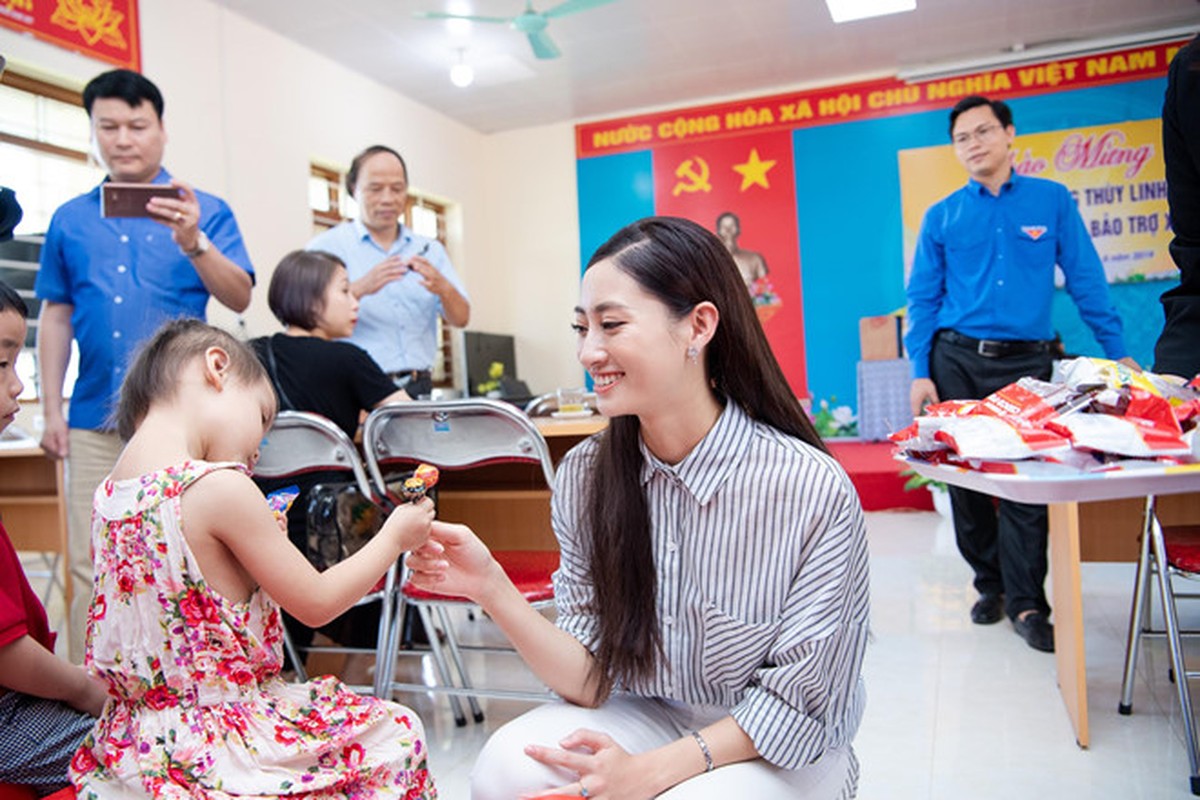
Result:
M1163 628L1151 625L1151 579L1156 578L1157 594L1163 609ZM1200 578L1200 525L1168 525L1158 522L1154 497L1146 498L1146 516L1141 533L1141 555L1134 578L1133 610L1129 614L1129 632L1126 640L1124 678L1121 682L1121 700L1117 711L1133 712L1133 685L1138 668L1138 651L1145 637L1166 637L1171 658L1169 676L1175 681L1183 718L1183 744L1188 748L1192 794L1200 795L1200 750L1198 750L1195 711L1188 680L1200 678L1200 672L1188 670L1183 658L1183 636L1195 631L1181 630L1175 601L1195 599L1195 593L1177 591L1172 578Z

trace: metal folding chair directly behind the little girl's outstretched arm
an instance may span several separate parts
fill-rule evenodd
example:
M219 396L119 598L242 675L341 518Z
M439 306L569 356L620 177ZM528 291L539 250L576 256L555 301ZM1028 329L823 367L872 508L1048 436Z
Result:
M313 471L338 471L346 473L348 480L353 480L364 498L374 501L376 494L367 477L362 459L358 447L346 432L334 425L329 419L312 414L310 411L280 411L275 417L275 425L268 431L266 437L259 449L258 463L254 464L254 475L266 479L286 479L299 476ZM391 630L391 620L395 614L396 585L398 575L398 561L392 564L382 581L382 585L365 595L356 604L380 602L379 632L376 639L376 648L367 650L362 648L343 648L311 645L305 648L305 654L299 652L292 643L292 637L283 628L283 645L295 666L299 680L307 680L305 672L305 658L308 652L372 652L376 655L377 675L380 670L378 664L385 663L380 656L386 651L388 633ZM378 678L373 686L350 686L356 692L372 692L383 697L388 691L384 681Z

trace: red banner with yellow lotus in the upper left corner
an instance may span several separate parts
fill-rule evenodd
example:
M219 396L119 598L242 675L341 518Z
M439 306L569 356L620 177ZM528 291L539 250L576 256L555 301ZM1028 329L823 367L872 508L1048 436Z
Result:
M139 72L138 0L0 0L0 25Z

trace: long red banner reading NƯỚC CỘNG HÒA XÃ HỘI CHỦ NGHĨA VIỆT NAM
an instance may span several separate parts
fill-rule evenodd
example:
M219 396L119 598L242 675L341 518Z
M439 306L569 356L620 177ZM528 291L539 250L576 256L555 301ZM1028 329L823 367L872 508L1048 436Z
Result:
M575 126L575 154L577 158L587 158L761 131L946 109L968 95L1007 100L1158 78L1166 74L1175 52L1186 43L1183 40L920 83L883 78L589 122Z

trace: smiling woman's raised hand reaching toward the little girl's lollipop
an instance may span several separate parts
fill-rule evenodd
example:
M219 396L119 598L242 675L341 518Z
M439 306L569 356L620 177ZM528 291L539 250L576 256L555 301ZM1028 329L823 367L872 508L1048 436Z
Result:
M430 540L408 554L409 579L421 589L458 595L473 601L486 593L499 565L484 542L467 525L434 521Z

